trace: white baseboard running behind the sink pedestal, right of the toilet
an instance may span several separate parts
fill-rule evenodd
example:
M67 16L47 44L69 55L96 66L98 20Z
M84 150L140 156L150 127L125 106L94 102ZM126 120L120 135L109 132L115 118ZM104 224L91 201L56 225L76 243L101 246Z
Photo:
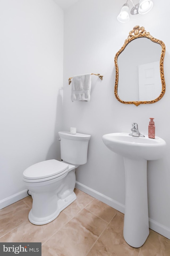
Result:
M76 181L75 187L83 191L84 193L91 195L92 197L100 200L101 202L106 203L107 205L113 207L114 209L120 211L121 213L125 213L125 205L113 200L112 198L107 197L97 192L96 190L91 189L90 187L87 187L82 183L79 183L78 181ZM164 237L167 237L168 239L170 239L170 229L150 218L149 218L149 228L163 235Z

